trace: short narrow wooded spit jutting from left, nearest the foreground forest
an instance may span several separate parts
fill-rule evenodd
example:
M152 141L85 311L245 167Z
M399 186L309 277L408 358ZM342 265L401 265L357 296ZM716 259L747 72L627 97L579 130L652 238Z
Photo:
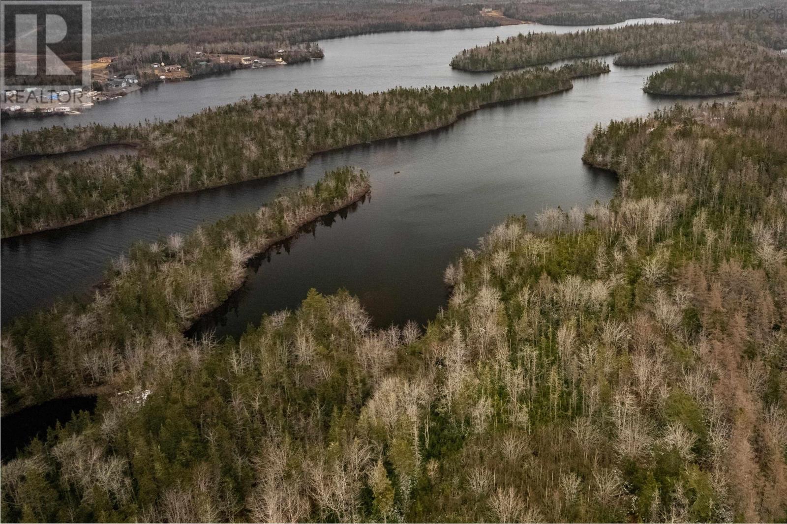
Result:
M320 216L360 200L368 176L327 172L257 210L238 213L186 237L139 243L113 260L88 304L61 301L3 327L2 405L8 412L128 375L142 378L169 344L222 304L246 278L246 263Z

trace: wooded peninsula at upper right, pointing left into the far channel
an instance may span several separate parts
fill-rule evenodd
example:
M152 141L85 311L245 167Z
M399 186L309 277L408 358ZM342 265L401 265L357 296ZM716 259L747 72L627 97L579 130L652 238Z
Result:
M453 68L500 71L571 58L619 54L615 65L676 65L654 73L652 94L708 96L749 90L787 93L787 20L752 20L740 14L680 24L637 24L557 35L517 35L463 50Z

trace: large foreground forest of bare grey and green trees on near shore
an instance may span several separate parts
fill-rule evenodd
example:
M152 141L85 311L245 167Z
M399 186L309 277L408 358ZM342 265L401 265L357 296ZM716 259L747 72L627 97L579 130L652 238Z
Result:
M783 519L785 101L614 121L584 159L615 198L493 227L425 331L312 292L142 345L131 394L3 465L3 519Z

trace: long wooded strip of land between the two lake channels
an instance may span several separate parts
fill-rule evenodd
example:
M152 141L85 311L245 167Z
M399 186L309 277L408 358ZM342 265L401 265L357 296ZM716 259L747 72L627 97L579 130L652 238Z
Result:
M2 235L91 220L168 194L277 175L302 167L319 151L429 131L482 105L566 90L571 78L608 70L589 61L504 75L473 87L372 94L296 90L169 122L51 127L6 136L4 159L118 142L139 145L140 154L29 167L6 162Z

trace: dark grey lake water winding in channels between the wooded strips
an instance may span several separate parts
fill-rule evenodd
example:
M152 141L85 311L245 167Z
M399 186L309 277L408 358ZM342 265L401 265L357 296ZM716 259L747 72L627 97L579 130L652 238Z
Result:
M111 113L95 109L91 114L130 122L152 116L152 105L155 115L170 118L214 100L237 100L244 89L477 83L491 75L455 72L447 65L450 57L525 29L576 30L509 26L330 40L320 43L324 61L162 86L130 95ZM2 242L2 322L54 297L86 293L100 281L109 258L136 240L187 232L199 223L252 210L286 187L313 183L327 169L345 164L371 173L371 201L262 260L216 320L218 334L238 334L264 312L293 308L312 287L323 293L346 288L380 326L426 322L445 304L445 266L462 249L475 246L489 227L511 214L534 216L553 205L569 208L611 197L615 178L582 165L586 135L598 122L645 115L679 101L641 91L643 80L658 69L612 66L610 74L577 80L566 93L482 109L418 137L321 153L287 175L168 197L118 216L7 239Z

